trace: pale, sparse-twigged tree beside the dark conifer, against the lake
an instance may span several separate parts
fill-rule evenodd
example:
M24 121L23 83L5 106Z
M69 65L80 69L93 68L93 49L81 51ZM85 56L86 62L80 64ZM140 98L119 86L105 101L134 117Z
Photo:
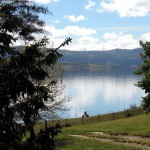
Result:
M49 94L54 100L46 103L48 109L40 111L40 116L45 120L60 119L59 114L68 111L64 104L70 100L70 97L64 93L63 66L59 63L51 66L48 74L49 77L42 84L51 91Z

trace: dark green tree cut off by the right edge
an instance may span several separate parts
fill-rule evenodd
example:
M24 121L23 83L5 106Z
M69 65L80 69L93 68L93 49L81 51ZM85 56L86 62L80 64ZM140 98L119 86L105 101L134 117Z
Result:
M141 75L142 79L137 83L137 86L145 90L146 96L143 97L142 106L146 111L150 111L150 42L140 42L143 48L141 58L143 64L135 71L137 75Z

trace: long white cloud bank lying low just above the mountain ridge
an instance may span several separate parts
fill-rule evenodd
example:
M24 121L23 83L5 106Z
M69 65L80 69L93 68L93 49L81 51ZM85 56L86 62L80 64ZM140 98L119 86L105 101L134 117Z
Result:
M134 49L140 47L140 40L150 41L150 32L135 37L127 32L105 32L99 36L96 30L80 26L66 26L61 29L46 25L44 30L50 41L55 42L54 47L59 46L65 38L71 37L72 43L64 48L75 51Z

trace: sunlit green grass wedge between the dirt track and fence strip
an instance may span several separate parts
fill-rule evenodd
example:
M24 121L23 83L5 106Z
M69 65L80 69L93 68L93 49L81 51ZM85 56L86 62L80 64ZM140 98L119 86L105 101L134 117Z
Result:
M70 134L104 132L113 135L122 134L148 137L150 136L150 115L142 114L118 120L65 127L64 132Z

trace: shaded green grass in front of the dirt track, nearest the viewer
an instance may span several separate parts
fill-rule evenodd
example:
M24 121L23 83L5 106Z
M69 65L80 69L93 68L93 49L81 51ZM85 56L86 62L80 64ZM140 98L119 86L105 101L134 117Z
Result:
M60 136L56 143L57 150L141 150L124 145L99 142L89 139L79 139L69 136Z

